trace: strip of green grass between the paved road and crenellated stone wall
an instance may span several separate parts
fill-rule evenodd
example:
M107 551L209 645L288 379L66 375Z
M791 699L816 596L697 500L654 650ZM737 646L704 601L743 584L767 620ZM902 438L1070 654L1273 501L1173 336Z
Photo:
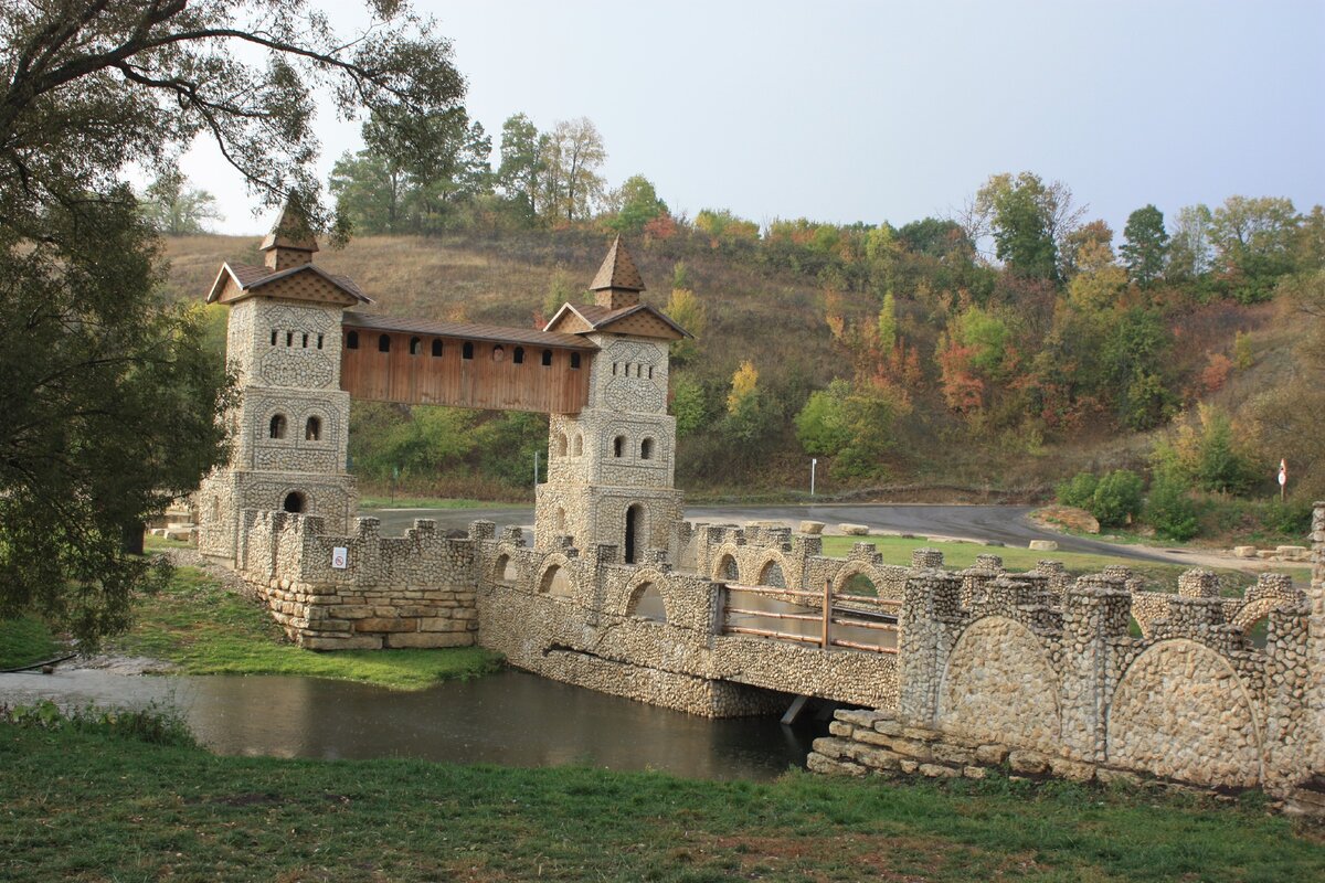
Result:
M980 543L939 543L929 539L904 539L900 536L825 536L824 555L843 557L856 543L872 543L882 552L885 564L910 565L913 549L934 548L943 553L943 567L962 569L975 564L977 555L998 555L1003 559L1003 567L1008 571L1032 571L1040 560L1049 559L1063 561L1063 565L1073 576L1083 573L1098 573L1110 564L1122 564L1137 576L1150 581L1161 589L1177 589L1178 576L1191 569L1189 564L1159 564L1157 561L1137 561L1134 559L1114 557L1110 555L1089 555L1083 552L1036 552L1011 545L983 545ZM1308 568L1280 567L1276 571L1292 573L1300 582L1308 581ZM1256 581L1256 577L1242 571L1216 571L1224 577L1224 585L1234 590Z

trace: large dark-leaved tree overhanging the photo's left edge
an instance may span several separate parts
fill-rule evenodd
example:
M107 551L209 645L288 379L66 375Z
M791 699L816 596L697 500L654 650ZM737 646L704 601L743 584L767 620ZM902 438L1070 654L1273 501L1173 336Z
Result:
M371 12L347 37L297 0L0 5L0 617L122 627L152 573L123 531L227 453L229 385L201 319L158 299L129 168L171 168L205 132L268 204L299 193L326 229L311 90L346 113L462 91L429 23Z

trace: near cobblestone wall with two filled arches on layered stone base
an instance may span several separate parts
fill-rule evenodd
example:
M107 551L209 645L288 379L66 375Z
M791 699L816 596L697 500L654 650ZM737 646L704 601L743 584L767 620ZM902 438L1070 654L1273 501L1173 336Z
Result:
M1178 594L1141 592L1125 568L1065 593L1052 572L912 572L896 707L841 711L811 769L983 777L1003 765L1075 780L1157 777L1260 785L1325 809L1325 504L1308 593L1263 575L1242 598L1190 571ZM1130 620L1143 624L1136 637ZM1247 631L1267 624L1264 647Z

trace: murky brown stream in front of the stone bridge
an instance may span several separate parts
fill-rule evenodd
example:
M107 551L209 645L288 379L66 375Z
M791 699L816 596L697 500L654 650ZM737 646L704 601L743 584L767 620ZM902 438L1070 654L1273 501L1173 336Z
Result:
M95 670L0 675L0 702L179 708L221 755L421 757L461 764L661 769L770 778L804 765L814 724L708 720L519 671L417 692L284 676L125 676ZM822 727L822 724L820 724Z

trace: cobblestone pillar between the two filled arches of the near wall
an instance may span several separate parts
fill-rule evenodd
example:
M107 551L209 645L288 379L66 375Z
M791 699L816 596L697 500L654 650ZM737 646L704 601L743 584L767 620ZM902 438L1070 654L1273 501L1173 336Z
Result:
M1132 593L1121 576L1084 576L1063 600L1063 747L1076 759L1105 757L1108 710L1122 676Z

